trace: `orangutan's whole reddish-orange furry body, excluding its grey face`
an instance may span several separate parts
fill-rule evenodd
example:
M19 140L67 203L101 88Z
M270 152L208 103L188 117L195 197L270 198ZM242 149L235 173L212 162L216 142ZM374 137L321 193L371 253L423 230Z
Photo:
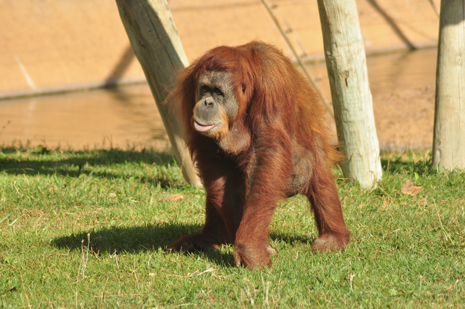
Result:
M197 81L208 70L231 73L239 101L235 119L225 118L229 130L220 142L192 125ZM171 96L179 102L186 145L207 197L202 232L181 237L169 249L232 243L238 265L271 266L273 210L279 200L297 193L308 197L315 213L320 237L313 248L344 249L349 232L330 169L340 155L329 142L325 107L282 52L259 41L213 48L178 75ZM295 164L309 171L305 185L296 182L298 192L289 184Z

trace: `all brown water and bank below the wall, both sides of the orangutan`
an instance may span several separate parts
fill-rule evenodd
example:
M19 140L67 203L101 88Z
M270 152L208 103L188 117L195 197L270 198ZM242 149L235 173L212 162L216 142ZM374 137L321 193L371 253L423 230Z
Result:
M436 49L372 56L367 66L381 147L431 146ZM308 69L331 101L326 65ZM0 132L0 145L169 147L145 84L0 101Z

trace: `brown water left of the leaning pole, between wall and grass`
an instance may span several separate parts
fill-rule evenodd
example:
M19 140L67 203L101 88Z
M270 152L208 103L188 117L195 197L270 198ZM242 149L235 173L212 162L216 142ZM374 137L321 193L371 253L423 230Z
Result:
M0 101L0 144L48 148L168 146L147 85ZM7 121L10 121L7 124Z

